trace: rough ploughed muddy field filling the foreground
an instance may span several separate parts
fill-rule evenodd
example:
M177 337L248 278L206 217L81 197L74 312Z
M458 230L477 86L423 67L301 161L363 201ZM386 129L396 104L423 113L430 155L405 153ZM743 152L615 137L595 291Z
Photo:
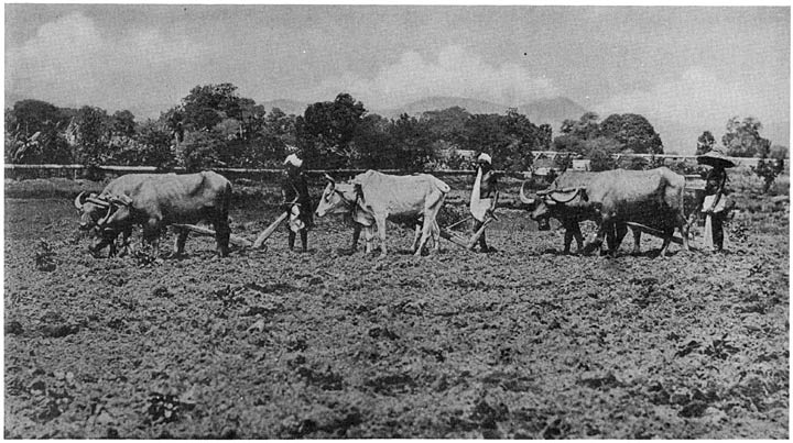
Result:
M162 263L90 257L67 198L4 204L6 438L789 436L786 204L724 255L563 256L503 211L492 254L391 226L347 256L322 219L307 254L282 229ZM252 240L275 212L232 215Z

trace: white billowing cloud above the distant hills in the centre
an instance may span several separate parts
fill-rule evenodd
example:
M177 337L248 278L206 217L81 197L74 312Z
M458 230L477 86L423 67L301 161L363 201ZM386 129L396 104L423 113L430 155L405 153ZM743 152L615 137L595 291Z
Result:
M373 78L348 73L325 80L307 92L312 97L328 97L340 90L365 103L383 108L427 96L465 97L519 106L558 95L557 88L546 78L533 77L517 64L489 65L460 46L445 47L436 59L408 52L395 64L382 67Z

